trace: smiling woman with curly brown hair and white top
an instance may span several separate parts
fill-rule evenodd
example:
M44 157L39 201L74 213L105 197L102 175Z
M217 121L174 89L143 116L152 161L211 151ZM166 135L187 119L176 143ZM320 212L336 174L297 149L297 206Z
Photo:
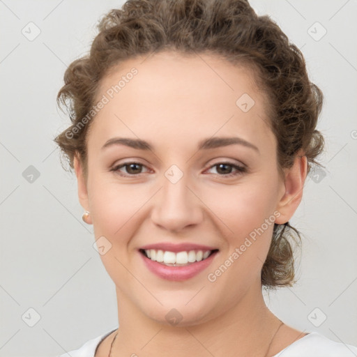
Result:
M99 30L55 141L119 328L70 356L356 356L262 295L295 281L289 220L324 146L301 52L243 0L128 1Z

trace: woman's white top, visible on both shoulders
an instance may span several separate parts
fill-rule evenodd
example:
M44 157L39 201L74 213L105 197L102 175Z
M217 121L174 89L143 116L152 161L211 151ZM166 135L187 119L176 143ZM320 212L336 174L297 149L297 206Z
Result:
M79 349L61 354L58 357L94 357L100 342L113 331L93 338L93 340L87 341ZM357 347L351 346L351 344L335 342L317 332L310 332L273 357L357 357Z

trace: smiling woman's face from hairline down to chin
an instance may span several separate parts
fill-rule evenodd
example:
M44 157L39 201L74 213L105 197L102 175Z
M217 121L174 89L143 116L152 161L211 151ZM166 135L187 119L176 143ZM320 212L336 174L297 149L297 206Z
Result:
M182 324L199 324L254 301L295 186L287 192L279 175L249 68L208 54L143 60L101 82L86 184L76 166L79 198L109 248L100 258L122 306L163 323L174 308Z

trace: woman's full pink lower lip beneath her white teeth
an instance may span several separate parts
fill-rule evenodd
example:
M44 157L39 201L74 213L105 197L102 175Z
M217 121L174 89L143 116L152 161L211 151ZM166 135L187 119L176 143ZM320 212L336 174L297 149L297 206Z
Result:
M212 263L216 254L217 252L213 252L208 258L202 261L196 261L187 266L166 266L147 258L144 254L139 252L139 255L144 259L144 263L149 268L149 271L158 275L158 277L162 279L172 281L182 281L193 278L195 275L204 271L204 269Z

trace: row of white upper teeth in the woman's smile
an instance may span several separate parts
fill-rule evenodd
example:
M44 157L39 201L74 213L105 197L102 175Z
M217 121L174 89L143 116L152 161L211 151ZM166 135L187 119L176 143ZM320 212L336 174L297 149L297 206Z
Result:
M188 252L169 252L164 250L155 250L147 249L145 250L146 256L153 260L158 261L159 263L164 263L167 265L171 264L188 264L194 263L195 261L202 261L208 258L208 255L211 254L211 250L190 250Z

